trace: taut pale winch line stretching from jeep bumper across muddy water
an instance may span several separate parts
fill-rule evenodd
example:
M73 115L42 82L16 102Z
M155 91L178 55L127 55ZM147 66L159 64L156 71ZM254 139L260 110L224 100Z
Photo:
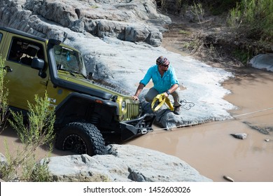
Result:
M248 116L248 115L251 115L251 114L254 114L254 113L260 113L262 111L269 111L269 110L273 110L273 108L260 109L258 111L253 111L253 112L248 112L248 113L242 113L242 114L238 114L238 115L235 115L235 116L231 116L232 118L229 118L229 119L226 119L226 120L221 120L221 121L210 120L210 121L207 121L207 122L190 123L190 124L178 125L178 126L174 126L174 127L162 127L162 128L154 129L154 131L174 129L174 128L181 128L181 127L190 127L190 126L194 126L194 125L201 125L201 124L204 124L204 123L211 123L211 122L214 122L214 123L226 123L227 121L230 121L230 120L232 120L232 121L238 120L236 118L240 117L240 116Z

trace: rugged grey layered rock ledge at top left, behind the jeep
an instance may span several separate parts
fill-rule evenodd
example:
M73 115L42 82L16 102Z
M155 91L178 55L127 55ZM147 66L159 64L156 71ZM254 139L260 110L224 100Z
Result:
M3 0L0 6L0 25L60 40L66 35L58 25L100 38L109 36L159 46L162 33L155 25L171 22L157 12L155 1L148 0Z

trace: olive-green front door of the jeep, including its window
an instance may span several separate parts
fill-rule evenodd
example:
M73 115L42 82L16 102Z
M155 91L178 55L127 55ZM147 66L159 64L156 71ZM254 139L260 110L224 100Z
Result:
M6 55L6 87L8 88L8 103L18 109L28 109L28 103L34 104L34 95L43 97L48 82L38 76L38 70L31 68L34 57L45 61L45 48L41 41L35 41L23 36L8 37Z

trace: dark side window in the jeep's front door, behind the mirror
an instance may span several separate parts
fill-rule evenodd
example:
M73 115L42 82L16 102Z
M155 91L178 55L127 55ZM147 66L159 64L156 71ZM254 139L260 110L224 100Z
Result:
M43 47L41 44L21 38L13 38L8 55L9 60L30 66L34 57L43 59Z

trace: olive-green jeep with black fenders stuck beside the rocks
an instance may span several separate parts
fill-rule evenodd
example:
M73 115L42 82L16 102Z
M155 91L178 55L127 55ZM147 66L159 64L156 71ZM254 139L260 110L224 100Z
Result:
M138 101L90 80L80 52L61 41L0 27L0 55L10 109L27 113L27 101L34 104L35 94L48 93L56 148L100 155L111 137L126 141L152 130L153 114L142 114Z

